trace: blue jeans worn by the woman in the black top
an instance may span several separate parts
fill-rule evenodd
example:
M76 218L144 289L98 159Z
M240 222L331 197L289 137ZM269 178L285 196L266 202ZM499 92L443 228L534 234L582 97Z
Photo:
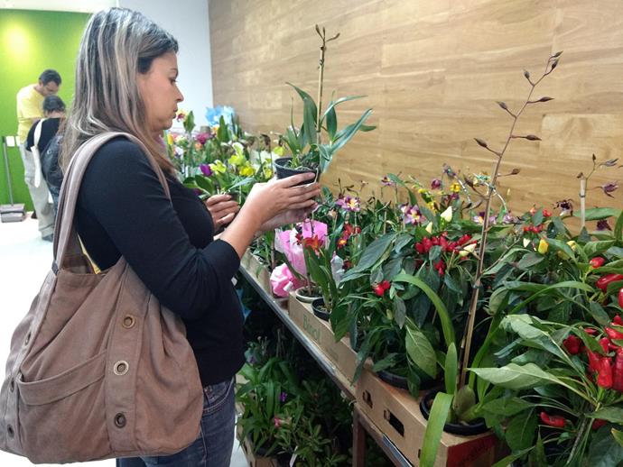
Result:
M158 457L126 457L116 467L228 467L234 447L234 380L203 388L199 437L183 451Z

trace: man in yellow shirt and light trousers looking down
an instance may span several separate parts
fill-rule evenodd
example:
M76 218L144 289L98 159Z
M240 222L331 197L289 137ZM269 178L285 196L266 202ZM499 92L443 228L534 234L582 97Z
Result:
M43 116L42 104L45 96L59 92L60 75L54 69L46 69L39 77L37 84L23 87L17 93L17 136L20 141L19 150L23 161L23 177L33 199L34 211L39 220L39 232L43 240L51 241L54 230L54 215L48 198L50 192L45 181L35 186L35 164L33 154L26 151L28 131Z

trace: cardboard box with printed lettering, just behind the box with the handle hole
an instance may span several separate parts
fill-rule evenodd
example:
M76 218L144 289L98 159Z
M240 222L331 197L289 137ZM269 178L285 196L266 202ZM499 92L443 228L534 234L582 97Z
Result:
M357 353L350 348L349 338L344 337L335 342L330 323L315 316L312 305L302 303L293 293L288 298L288 312L293 322L318 345L322 353L334 364L336 370L342 373L344 379L351 383L357 368ZM352 384L349 386L354 396L355 389Z

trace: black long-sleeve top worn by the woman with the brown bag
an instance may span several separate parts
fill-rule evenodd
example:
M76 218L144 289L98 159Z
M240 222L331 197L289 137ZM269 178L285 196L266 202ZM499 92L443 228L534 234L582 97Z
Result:
M115 138L88 164L76 229L106 270L123 255L153 295L181 316L203 385L230 379L244 362L243 317L231 279L234 248L214 240L199 197L167 175L172 201L143 151Z

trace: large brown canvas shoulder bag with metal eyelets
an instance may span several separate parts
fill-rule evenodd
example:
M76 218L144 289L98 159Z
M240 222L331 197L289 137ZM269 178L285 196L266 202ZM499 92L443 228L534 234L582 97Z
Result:
M122 257L94 274L73 217L88 161L116 136L80 146L59 201L52 270L14 331L0 390L0 449L32 462L177 453L199 435L202 390L184 325Z

